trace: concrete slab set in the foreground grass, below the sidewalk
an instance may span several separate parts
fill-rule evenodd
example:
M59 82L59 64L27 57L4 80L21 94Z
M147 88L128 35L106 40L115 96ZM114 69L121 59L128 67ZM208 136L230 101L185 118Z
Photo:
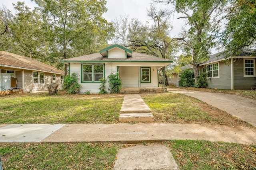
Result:
M179 168L167 147L138 145L118 151L114 170L179 170Z

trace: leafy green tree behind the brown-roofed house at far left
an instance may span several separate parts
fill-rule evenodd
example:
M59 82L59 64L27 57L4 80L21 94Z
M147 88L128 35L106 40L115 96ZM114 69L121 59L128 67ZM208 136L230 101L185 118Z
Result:
M42 30L41 16L24 2L13 4L12 14L5 6L0 9L0 50L44 61L48 46Z

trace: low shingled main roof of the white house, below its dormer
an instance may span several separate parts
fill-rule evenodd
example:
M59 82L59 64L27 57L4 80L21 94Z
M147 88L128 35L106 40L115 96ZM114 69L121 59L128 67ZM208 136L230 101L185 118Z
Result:
M61 63L72 63L72 62L87 62L87 63L104 63L104 62L145 62L145 63L172 63L170 60L162 59L159 57L154 57L151 55L146 55L142 53L133 52L132 57L127 59L107 59L103 57L101 53L94 53L90 55L83 55L79 57L73 57L70 59L64 59L60 61Z

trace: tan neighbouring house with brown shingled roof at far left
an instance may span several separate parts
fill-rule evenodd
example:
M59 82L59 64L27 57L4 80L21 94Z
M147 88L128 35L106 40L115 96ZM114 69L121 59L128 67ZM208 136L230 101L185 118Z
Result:
M48 90L47 84L64 81L64 71L35 59L0 51L0 91L23 89L23 92Z

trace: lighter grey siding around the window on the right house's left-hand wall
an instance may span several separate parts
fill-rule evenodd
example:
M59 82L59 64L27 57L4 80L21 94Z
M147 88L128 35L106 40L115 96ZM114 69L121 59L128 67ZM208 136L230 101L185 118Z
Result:
M206 65L200 66L202 70ZM211 78L206 83L207 88L217 89L231 89L231 65L226 64L225 61L219 62L219 76L220 78Z

